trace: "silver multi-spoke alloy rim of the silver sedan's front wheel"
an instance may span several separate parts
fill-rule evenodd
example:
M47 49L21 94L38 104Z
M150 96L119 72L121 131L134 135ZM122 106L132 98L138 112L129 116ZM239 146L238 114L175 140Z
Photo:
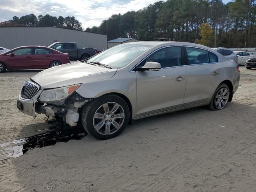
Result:
M116 102L108 102L100 106L93 117L94 129L102 135L110 135L118 131L124 123L124 109Z

